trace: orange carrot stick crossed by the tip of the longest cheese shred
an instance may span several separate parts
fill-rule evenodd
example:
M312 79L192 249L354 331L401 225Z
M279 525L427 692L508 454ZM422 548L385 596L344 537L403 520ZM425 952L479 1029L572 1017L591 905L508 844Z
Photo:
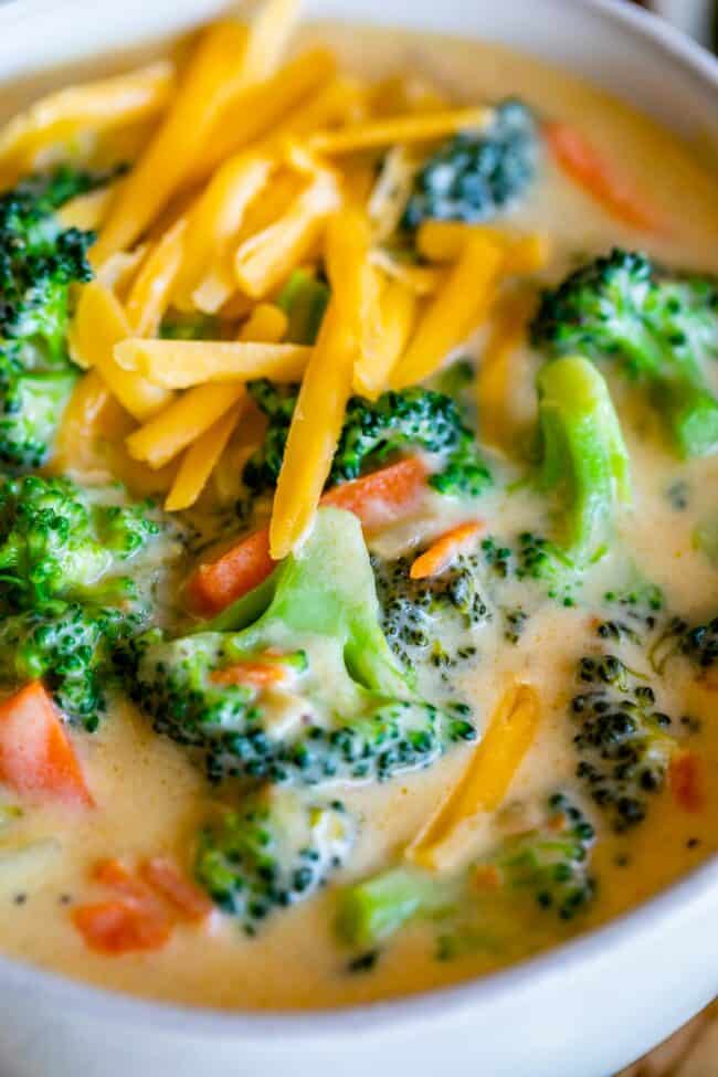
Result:
M345 508L358 516L367 530L374 530L416 511L425 485L426 468L418 457L410 456L334 487L321 504ZM188 584L190 604L207 615L219 613L266 580L275 563L270 557L268 530L254 531L217 561L200 564Z

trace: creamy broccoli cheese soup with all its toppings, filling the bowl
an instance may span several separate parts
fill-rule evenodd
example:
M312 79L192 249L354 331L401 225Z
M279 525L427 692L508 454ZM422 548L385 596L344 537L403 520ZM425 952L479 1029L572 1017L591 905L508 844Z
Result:
M718 844L715 177L277 10L0 134L0 947L220 1007L476 976Z

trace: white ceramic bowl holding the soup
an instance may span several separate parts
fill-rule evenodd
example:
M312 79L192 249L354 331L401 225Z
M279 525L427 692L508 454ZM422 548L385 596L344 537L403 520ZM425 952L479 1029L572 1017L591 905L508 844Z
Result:
M222 0L18 0L0 80L139 46ZM613 0L316 0L310 14L481 35L718 141L718 65ZM609 1077L718 992L718 860L619 920L506 972L329 1013L187 1010L0 959L2 1077Z

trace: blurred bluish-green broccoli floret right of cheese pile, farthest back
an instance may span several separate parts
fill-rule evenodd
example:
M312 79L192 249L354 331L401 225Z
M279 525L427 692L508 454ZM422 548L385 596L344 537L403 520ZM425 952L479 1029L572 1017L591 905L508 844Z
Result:
M427 218L488 221L524 197L539 157L536 118L520 101L500 102L490 123L462 133L429 158L414 180L402 224Z

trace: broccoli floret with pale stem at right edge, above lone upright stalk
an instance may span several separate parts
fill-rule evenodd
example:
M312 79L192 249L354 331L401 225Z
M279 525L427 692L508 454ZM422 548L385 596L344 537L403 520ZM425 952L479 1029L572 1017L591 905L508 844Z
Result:
M614 250L546 292L531 340L551 355L617 359L644 384L683 456L718 451L718 400L701 359L715 349L716 288L664 277L643 254Z

